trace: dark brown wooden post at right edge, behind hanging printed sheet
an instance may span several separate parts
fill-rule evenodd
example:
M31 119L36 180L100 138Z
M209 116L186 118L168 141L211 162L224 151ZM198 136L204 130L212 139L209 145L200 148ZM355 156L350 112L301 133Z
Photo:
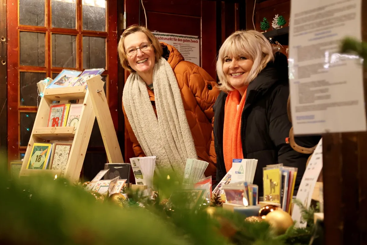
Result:
M362 1L362 10L367 2ZM367 16L362 14L362 40L367 41ZM367 73L364 70L364 100ZM367 132L323 136L324 244L367 242Z

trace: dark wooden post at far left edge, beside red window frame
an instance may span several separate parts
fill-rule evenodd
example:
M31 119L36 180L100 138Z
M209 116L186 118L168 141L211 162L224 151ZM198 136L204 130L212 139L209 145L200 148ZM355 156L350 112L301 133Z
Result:
M7 169L7 26L6 0L0 0L0 169Z

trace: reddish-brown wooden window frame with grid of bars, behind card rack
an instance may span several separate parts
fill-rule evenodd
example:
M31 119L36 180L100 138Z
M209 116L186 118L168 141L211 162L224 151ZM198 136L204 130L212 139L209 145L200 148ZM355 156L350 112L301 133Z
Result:
M34 112L37 107L20 106L20 72L46 72L46 77L52 73L59 73L61 67L52 67L52 34L76 35L76 67L70 68L83 71L83 36L103 37L106 42L106 96L109 102L111 116L115 130L118 128L118 97L117 97L117 0L106 0L106 30L105 32L83 30L82 0L76 0L76 28L52 28L51 0L45 0L44 26L20 25L19 0L7 1L7 29L8 29L8 66L7 66L7 113L8 113L8 166L10 161L19 158L20 147L20 112ZM14 20L14 21L12 21ZM16 21L15 21L16 20ZM43 32L45 36L45 66L20 65L20 32ZM17 122L17 123L16 123ZM104 147L88 148L90 152L100 152Z

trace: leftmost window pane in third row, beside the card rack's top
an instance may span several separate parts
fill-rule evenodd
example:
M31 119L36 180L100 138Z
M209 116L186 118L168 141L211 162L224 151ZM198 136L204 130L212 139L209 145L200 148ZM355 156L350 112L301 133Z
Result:
M37 83L46 78L44 72L20 72L20 105L21 106L37 106L41 101L38 97Z

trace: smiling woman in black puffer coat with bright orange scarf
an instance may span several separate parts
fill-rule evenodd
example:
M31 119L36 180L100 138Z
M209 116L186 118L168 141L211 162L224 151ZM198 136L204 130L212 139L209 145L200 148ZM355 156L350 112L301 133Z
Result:
M283 163L298 168L302 179L308 155L286 143L288 64L273 53L268 40L254 30L230 35L219 50L219 94L214 104L212 144L217 159L217 182L232 167L232 159L258 159L254 184L262 187L262 168ZM312 145L313 146L313 145ZM214 159L213 159L214 160Z

